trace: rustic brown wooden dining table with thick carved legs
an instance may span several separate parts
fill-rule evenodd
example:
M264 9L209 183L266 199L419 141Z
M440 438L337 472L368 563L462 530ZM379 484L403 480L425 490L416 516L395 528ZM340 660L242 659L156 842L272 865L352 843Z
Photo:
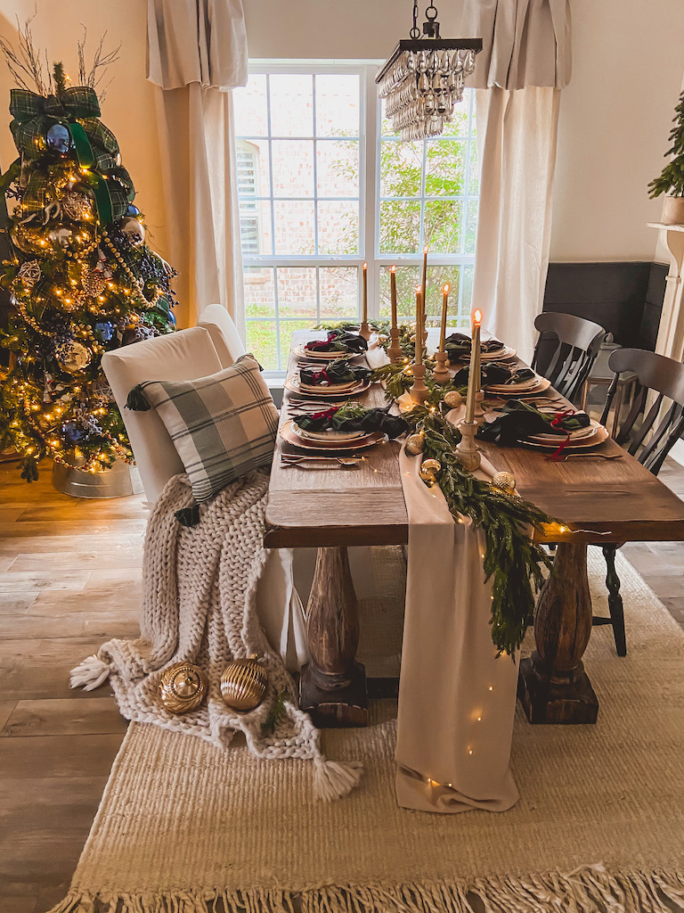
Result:
M295 331L293 349L314 338L323 336ZM297 365L291 353L288 376L296 373ZM285 390L280 426L291 417L293 395ZM544 396L554 399L559 410L572 407L553 388ZM388 404L380 383L372 383L355 399L367 408ZM489 402L488 396L485 417ZM317 550L306 606L310 660L299 687L300 706L318 726L368 723L368 683L356 660L358 605L347 549L408 544L401 446L401 441L379 443L352 467L332 461L294 466L282 457L305 451L277 436L264 544ZM620 457L611 460L587 452L554 462L547 452L528 446L481 440L478 446L497 471L513 475L521 498L554 518L534 532L536 540L554 543L554 572L537 597L536 648L521 662L518 698L531 723L595 723L598 700L582 662L593 616L587 545L684 540L684 502L612 438L592 451ZM616 586L615 581L609 584Z

